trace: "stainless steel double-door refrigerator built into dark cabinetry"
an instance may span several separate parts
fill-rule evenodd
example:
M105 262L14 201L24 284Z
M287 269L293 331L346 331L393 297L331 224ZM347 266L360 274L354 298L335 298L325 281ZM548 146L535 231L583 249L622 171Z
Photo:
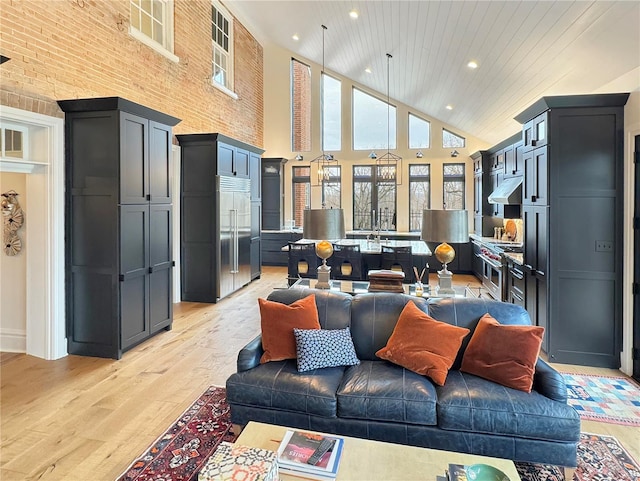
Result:
M251 281L251 181L216 176L220 227L217 252L217 298L221 299Z

